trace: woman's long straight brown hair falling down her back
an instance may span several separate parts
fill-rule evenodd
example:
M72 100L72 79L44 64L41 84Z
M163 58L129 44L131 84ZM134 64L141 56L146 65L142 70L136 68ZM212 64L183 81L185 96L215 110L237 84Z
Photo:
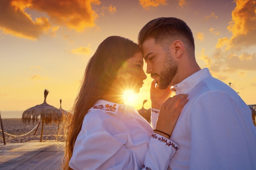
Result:
M72 157L76 138L81 131L83 118L88 110L108 91L117 70L127 59L139 52L139 46L133 41L111 36L101 42L85 69L83 82L72 108L71 118L64 118L64 170L72 170L69 161Z

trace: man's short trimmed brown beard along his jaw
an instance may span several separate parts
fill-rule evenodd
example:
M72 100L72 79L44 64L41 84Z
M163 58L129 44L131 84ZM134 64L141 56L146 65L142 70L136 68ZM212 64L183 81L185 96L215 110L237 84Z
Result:
M177 70L177 62L173 60L170 53L167 53L164 65L159 75L159 82L157 83L158 88L166 89L169 87L174 76L177 74Z

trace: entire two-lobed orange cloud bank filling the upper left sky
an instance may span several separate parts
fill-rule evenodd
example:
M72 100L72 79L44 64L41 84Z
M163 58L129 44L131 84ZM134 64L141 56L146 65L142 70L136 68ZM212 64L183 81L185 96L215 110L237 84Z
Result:
M0 0L0 31L27 39L37 39L48 33L52 25L56 26L52 33L58 26L83 31L85 27L95 26L98 15L92 10L92 4L100 3L99 0ZM47 16L33 20L26 9L43 12Z

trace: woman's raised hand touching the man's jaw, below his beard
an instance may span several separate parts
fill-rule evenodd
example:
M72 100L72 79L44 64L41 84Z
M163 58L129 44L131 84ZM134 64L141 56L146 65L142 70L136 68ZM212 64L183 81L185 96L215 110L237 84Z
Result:
M155 85L154 81L151 82L150 87L150 99L151 107L154 109L159 109L160 106L171 96L172 91L170 87L162 90Z

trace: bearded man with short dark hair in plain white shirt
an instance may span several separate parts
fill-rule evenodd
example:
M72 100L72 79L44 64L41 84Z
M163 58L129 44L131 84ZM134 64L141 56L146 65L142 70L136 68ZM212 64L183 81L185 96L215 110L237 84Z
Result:
M208 68L199 67L189 26L175 17L157 18L141 29L138 44L147 73L159 89L174 86L176 95L189 94L171 134L179 149L168 169L256 170L251 110L232 88L213 78Z

